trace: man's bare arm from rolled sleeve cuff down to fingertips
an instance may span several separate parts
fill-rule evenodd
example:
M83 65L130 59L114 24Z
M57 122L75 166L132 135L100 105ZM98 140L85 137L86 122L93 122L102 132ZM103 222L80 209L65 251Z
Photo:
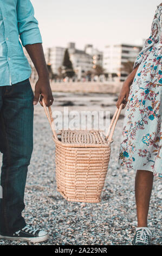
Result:
M33 100L33 104L36 105L40 95L40 103L42 105L42 98L44 98L44 102L46 106L52 105L54 99L53 94L51 92L50 83L49 83L49 73L47 69L46 60L44 58L43 47L42 44L33 44L33 45L25 45L25 48L36 68L38 73L38 81L35 85L35 96Z

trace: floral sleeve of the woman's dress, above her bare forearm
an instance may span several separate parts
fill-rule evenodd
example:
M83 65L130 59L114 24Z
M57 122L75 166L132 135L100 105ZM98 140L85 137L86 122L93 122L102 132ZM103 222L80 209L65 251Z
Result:
M153 22L152 22L151 35L145 41L145 44L142 50L140 51L137 58L135 59L133 68L135 68L138 64L141 64L144 57L145 56L147 57L147 54L146 54L147 52L152 51L153 45L159 40L159 34L160 34L160 24L159 24L158 14L156 11Z

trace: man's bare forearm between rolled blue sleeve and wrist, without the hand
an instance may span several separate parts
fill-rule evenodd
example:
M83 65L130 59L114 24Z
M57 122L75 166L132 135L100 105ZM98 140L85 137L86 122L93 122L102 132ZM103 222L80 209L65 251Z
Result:
M39 77L49 78L42 44L25 45L25 48L36 68Z

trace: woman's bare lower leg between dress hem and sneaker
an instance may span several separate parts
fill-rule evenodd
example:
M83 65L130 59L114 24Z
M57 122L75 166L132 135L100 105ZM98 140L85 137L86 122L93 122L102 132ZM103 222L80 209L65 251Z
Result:
M135 176L135 201L137 205L137 227L147 227L148 208L153 185L153 173L137 170Z

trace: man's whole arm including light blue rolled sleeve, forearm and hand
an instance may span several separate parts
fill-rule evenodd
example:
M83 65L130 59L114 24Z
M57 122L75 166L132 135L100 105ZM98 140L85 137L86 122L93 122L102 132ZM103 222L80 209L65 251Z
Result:
M30 0L17 0L16 5L18 32L22 45L26 48L38 73L38 81L35 86L34 105L37 104L41 95L47 106L53 103L53 95L50 88L46 61L44 58L42 38L38 22L34 17L34 8Z

